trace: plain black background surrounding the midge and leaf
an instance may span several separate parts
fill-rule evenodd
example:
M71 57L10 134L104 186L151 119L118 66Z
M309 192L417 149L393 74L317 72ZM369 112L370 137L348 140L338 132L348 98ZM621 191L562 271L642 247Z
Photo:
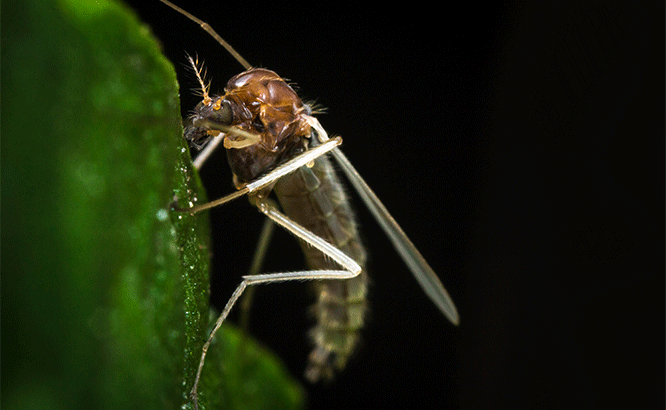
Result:
M183 16L134 3L184 114L198 102L185 52L212 91L242 71ZM461 315L447 323L354 196L371 317L337 381L308 387L310 408L664 407L663 3L177 3L327 107L320 121ZM221 152L202 176L210 198L233 191ZM262 219L242 200L210 214L219 307ZM278 232L266 270L302 267ZM297 377L310 303L296 283L253 306L252 333Z

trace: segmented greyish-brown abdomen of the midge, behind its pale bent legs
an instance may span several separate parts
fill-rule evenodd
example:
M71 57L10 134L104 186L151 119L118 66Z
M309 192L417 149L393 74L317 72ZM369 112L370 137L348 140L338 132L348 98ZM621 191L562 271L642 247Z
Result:
M305 377L311 382L330 379L334 370L345 367L357 346L368 309L365 249L344 188L327 158L283 177L274 191L286 215L335 245L363 269L352 279L311 284L317 296L312 306L317 324L310 331L315 347ZM343 269L312 246L302 241L301 246L310 269Z

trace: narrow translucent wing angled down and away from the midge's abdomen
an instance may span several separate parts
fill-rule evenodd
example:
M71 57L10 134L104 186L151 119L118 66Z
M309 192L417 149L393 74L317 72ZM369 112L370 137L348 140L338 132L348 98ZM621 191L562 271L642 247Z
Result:
M402 231L402 228L400 228L391 214L389 214L384 204L381 203L379 198L377 198L377 195L375 195L368 184L363 178L361 178L361 175L359 175L342 151L336 148L331 151L331 154L340 164L343 172L347 175L347 178L361 196L368 209L370 209L379 225L384 229L384 232L386 232L386 235L402 257L402 260L404 260L409 267L409 270L412 271L412 274L421 285L421 288L423 288L423 291L435 303L435 305L437 305L439 310L441 310L454 325L457 325L460 318L456 306L446 289L444 289L442 282L430 265L428 265L428 262L426 262L418 249L416 249L412 241L407 238L407 235Z

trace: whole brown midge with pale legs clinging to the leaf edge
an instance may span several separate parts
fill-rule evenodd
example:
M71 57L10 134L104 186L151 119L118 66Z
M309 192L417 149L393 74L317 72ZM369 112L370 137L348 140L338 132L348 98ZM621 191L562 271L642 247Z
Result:
M326 155L328 153L384 229L424 292L457 325L458 312L444 286L342 154L338 148L341 138L328 137L311 108L280 76L270 70L252 68L208 24L167 0L160 1L198 23L246 69L229 80L224 95L210 95L201 68L189 59L201 84L203 100L190 117L191 125L187 126L185 137L198 147L213 140L197 157L195 166L201 167L215 146L222 142L237 191L207 204L177 210L195 213L248 195L250 202L270 221L301 239L309 268L243 277L204 344L191 391L195 407L208 347L248 286L290 280L312 281L318 300L313 309L317 324L310 333L314 348L305 371L309 381L330 379L334 370L345 367L354 351L368 309L366 254L359 240L354 214ZM279 206L268 198L271 192L275 193ZM264 230L261 242L267 242L269 232ZM255 267L259 265L254 264Z

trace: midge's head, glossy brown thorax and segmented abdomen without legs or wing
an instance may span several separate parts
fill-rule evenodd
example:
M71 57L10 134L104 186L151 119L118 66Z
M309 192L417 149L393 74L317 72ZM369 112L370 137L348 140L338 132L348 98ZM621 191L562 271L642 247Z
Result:
M234 182L240 188L309 146L317 145L317 138L311 138L309 123L302 117L310 114L310 108L280 76L253 68L231 78L222 97L209 98L204 90L204 100L190 118L192 125L186 129L186 137L203 145L202 142L220 134L215 125L260 135L253 145L227 149ZM224 138L238 137L227 133ZM270 189L262 190L259 195L268 195ZM326 157L316 159L312 167L301 167L278 179L272 190L286 215L363 268L352 279L312 282L318 296L313 306L317 325L310 332L315 348L306 377L313 382L330 379L334 369L344 368L356 347L367 311L366 254L354 214ZM319 250L303 242L301 245L310 269L340 269Z

